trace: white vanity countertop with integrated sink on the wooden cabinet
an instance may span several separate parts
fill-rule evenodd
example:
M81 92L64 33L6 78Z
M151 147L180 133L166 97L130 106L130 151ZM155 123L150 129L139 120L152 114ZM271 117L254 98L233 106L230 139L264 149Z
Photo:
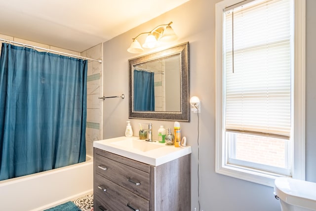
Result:
M139 140L138 137L125 136L94 141L93 147L152 166L159 166L192 153L191 146L174 147L158 141L148 142Z

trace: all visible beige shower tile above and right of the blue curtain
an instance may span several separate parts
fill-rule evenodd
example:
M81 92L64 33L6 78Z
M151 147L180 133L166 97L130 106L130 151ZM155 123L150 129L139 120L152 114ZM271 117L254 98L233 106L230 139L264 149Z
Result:
M84 56L92 59L102 59L102 44L91 47L81 53L67 50L59 47L54 47L38 42L27 41L15 37L1 35L4 40L20 42L24 44L34 45L55 51L70 53L77 56ZM42 51L37 49L38 51ZM1 52L1 45L0 45ZM101 123L102 123L102 104L99 96L102 96L102 64L96 61L88 61L87 73L87 126L85 133L86 152L88 155L93 155L93 141L102 139Z

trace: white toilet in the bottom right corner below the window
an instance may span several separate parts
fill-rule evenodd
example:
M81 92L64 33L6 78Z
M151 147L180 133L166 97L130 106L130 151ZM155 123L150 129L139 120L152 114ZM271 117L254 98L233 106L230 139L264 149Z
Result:
M316 211L316 183L287 177L275 180L282 211Z

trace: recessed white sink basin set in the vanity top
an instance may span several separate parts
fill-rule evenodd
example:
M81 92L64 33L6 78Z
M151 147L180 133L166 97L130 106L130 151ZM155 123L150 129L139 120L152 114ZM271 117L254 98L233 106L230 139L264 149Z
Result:
M118 145L120 147L127 147L129 149L135 149L142 152L147 152L150 150L158 149L160 147L163 147L161 144L155 144L155 142L149 142L145 140L140 139L132 139L132 140L121 140L113 142L113 144Z

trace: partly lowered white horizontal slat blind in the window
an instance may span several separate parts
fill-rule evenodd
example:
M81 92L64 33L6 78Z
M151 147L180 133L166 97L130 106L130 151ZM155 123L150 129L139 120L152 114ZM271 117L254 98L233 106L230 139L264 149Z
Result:
M291 5L254 0L225 12L226 131L289 137Z

